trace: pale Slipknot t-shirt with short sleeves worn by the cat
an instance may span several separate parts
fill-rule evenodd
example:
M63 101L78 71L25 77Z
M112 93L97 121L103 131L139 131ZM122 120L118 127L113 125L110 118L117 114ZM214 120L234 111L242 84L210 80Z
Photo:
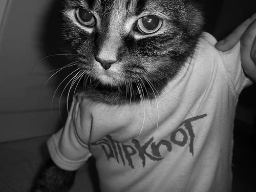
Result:
M196 54L156 99L110 106L83 93L48 140L53 161L76 170L93 155L101 191L231 191L233 120L250 82L240 44L215 49L204 33Z

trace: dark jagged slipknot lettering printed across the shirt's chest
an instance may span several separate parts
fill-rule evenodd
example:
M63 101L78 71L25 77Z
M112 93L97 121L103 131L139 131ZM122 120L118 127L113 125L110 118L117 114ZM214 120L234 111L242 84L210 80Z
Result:
M196 116L187 119L181 123L180 126L184 125L185 129L177 129L175 132L170 134L169 140L161 140L158 143L154 142L154 137L150 138L146 143L140 144L137 139L132 139L132 145L126 145L115 141L110 135L105 136L105 138L92 143L91 145L101 145L108 161L114 158L118 163L122 162L125 166L126 163L132 168L134 168L132 157L136 154L140 157L143 167L146 164L146 157L153 161L160 161L163 157L160 154L160 147L165 146L168 152L172 152L173 144L178 146L185 146L189 139L189 152L194 156L194 139L195 134L193 131L192 122L198 119L203 119L207 114ZM180 127L179 126L179 127ZM182 141L177 140L177 134L183 136Z

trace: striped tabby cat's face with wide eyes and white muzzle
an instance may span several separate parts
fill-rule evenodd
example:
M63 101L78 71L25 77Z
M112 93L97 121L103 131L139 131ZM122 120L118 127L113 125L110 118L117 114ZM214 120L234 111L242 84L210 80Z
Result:
M193 52L199 11L185 0L65 0L63 34L102 84L167 81Z

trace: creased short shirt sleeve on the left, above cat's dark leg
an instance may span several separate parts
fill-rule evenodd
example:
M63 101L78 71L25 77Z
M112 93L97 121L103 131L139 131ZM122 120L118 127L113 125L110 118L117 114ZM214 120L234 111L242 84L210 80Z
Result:
M75 98L64 127L47 141L54 163L65 170L76 170L91 156L89 138L91 118ZM89 131L89 132L87 132Z

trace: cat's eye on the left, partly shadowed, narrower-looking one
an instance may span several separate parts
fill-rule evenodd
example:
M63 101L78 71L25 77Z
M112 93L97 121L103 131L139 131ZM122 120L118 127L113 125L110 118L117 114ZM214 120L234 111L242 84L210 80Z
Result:
M76 9L76 18L82 25L87 27L93 27L96 24L96 19L92 12L82 7Z

